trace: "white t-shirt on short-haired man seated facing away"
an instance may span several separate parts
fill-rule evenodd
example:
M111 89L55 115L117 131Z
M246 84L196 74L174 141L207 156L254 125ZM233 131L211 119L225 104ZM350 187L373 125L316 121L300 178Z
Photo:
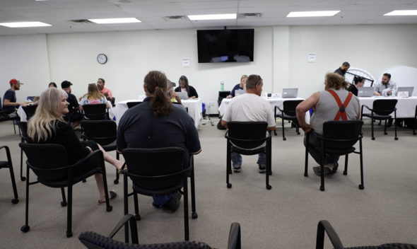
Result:
M268 127L276 125L271 104L253 93L245 93L232 98L222 120L225 122L268 122ZM265 144L262 144L254 149L264 146Z

